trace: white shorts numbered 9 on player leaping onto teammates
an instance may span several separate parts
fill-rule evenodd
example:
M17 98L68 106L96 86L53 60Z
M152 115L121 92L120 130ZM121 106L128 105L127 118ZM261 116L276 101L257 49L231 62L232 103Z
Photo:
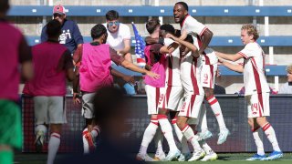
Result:
M202 87L214 88L217 64L202 66L201 85Z

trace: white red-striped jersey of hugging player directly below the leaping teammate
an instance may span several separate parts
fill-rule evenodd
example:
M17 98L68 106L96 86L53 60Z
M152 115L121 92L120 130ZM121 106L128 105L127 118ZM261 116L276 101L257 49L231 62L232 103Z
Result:
M181 63L181 79L184 93L188 95L204 95L201 85L202 58L193 57L191 52L183 56Z

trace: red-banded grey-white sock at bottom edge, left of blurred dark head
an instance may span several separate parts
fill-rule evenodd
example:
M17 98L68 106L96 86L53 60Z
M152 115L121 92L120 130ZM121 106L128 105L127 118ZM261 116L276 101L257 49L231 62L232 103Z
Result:
M52 133L48 141L47 164L53 164L60 145L60 135Z

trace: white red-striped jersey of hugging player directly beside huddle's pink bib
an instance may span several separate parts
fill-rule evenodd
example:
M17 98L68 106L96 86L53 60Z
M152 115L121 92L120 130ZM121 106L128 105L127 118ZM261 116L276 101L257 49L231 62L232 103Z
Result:
M164 46L172 45L171 38L164 38ZM181 81L181 55L180 48L176 48L171 55L166 57L166 86L182 86Z

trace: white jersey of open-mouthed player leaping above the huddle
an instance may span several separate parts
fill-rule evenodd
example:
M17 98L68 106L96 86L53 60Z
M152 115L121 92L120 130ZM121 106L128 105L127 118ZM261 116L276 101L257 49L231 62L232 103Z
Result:
M200 49L202 46L201 36L203 35L205 29L207 29L207 27L198 22L191 15L187 15L183 20L183 24L181 25L181 33L186 30L188 34L195 36L193 37L193 45L198 49Z

